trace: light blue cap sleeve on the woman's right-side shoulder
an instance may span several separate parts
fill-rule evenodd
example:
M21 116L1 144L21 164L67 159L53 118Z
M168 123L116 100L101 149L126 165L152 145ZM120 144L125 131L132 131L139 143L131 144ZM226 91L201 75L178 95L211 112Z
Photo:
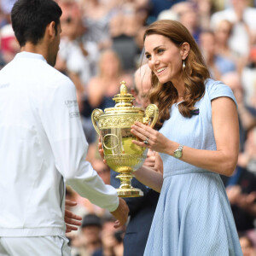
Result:
M226 84L223 84L220 81L214 81L212 79L207 80L206 90L209 95L210 100L214 100L218 97L230 97L236 104L236 97L233 94L233 91Z

